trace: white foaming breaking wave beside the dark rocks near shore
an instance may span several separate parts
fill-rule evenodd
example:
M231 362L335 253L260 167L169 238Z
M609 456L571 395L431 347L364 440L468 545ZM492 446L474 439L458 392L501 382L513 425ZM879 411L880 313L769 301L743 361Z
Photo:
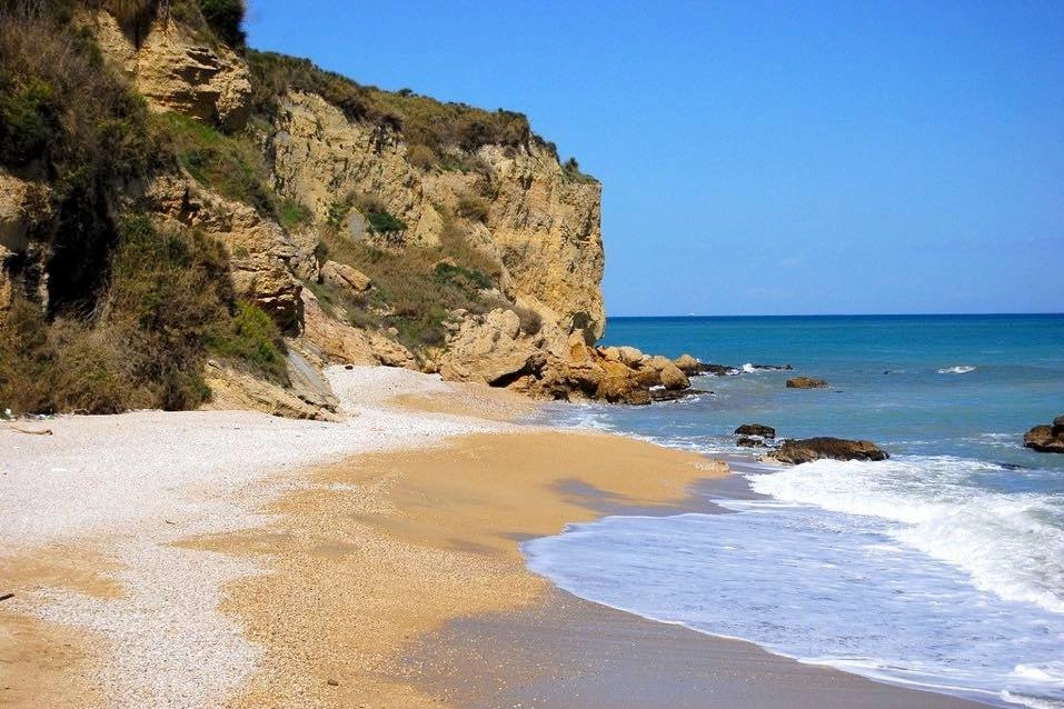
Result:
M1047 495L967 483L994 463L953 457L821 460L753 476L757 492L888 520L896 541L951 563L975 588L1064 613L1064 508Z

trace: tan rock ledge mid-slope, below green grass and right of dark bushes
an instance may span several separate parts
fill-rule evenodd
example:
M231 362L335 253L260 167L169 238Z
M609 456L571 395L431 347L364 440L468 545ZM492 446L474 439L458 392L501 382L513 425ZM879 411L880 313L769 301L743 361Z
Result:
M294 270L308 256L296 249L276 221L247 204L228 201L177 178L155 180L147 197L163 221L197 229L225 243L237 294L270 313L282 330L298 330L302 321L302 284Z

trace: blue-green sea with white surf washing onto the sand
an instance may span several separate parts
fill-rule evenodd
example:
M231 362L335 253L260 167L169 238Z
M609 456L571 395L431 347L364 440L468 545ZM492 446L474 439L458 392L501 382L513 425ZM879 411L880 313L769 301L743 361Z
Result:
M736 475L687 513L529 540L534 571L802 662L1064 708L1064 455L1023 447L1064 413L1064 314L613 318L603 343L734 373L675 402L545 417L725 457ZM787 389L799 375L831 386ZM757 463L733 435L755 422L891 458Z

